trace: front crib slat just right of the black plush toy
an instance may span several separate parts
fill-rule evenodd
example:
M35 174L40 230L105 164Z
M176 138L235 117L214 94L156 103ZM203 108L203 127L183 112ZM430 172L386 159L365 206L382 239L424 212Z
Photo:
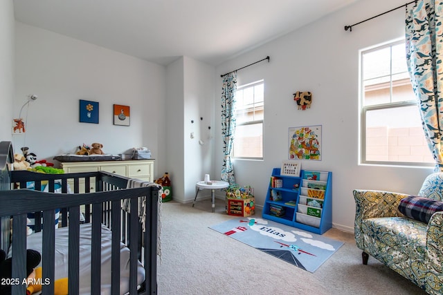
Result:
M45 210L43 211L43 241L42 241L42 278L48 278L50 282L54 281L55 269L55 211ZM45 222L50 220L50 222ZM42 285L42 293L48 295L54 295L53 285Z

